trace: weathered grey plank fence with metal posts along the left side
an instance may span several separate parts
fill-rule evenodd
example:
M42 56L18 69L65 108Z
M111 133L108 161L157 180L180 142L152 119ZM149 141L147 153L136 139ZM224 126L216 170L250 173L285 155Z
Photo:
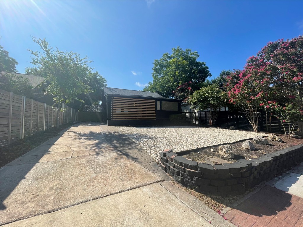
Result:
M62 104L59 125L72 123L78 111ZM0 146L56 126L58 108L0 90Z

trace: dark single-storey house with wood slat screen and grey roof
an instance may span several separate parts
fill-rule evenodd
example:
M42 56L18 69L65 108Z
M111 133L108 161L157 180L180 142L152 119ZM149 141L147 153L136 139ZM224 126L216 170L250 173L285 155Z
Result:
M103 120L108 125L167 125L169 115L181 112L179 99L156 92L104 87Z

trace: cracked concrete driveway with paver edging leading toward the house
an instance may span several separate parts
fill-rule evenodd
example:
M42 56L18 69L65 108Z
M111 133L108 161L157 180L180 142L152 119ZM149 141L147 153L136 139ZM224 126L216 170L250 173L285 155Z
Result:
M233 226L132 140L79 123L1 168L4 226Z

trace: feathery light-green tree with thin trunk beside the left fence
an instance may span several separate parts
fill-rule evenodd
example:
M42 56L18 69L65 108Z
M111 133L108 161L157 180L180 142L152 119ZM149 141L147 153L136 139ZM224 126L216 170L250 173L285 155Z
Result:
M85 102L84 97L89 99L87 95L95 91L92 84L106 82L98 72L92 73L92 68L88 66L91 61L87 57L80 58L77 53L59 51L58 48L54 50L45 39L32 39L42 51L29 50L35 68L28 69L28 72L37 72L46 77L43 92L53 97L58 108L62 103ZM58 117L59 111L57 127Z

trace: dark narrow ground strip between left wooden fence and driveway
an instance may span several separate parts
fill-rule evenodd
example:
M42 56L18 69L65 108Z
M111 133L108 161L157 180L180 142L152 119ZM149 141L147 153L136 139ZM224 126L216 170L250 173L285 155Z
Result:
M40 131L34 135L24 137L23 140L17 140L9 145L1 147L0 151L0 167L12 162L16 158L24 155L28 151L41 145L45 141L58 136L63 129L72 126L75 123L60 125L59 128L53 127L45 131Z

